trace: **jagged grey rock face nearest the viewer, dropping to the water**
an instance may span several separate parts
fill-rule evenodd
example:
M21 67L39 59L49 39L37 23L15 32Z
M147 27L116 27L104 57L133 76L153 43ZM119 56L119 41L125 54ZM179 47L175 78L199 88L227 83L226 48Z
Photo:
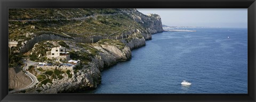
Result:
M94 65L94 63L90 63L91 67L87 67L83 70L79 70L78 72L73 74L72 78L69 78L66 73L63 73L62 79L53 79L52 84L47 83L46 85L42 85L42 87L37 88L36 90L41 91L32 91L31 93L51 93L57 94L62 92L73 92L78 89L89 89L95 88L98 84L100 84L101 75L100 70Z

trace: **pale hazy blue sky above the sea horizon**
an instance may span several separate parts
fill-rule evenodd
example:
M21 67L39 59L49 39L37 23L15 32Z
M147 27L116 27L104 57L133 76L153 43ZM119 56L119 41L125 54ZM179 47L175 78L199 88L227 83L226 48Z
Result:
M167 26L247 28L247 8L137 8L143 14L158 14Z

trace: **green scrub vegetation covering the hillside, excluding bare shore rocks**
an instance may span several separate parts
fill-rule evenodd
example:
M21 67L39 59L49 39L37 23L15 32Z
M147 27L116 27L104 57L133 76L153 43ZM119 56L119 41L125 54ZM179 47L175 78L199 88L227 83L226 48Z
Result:
M29 66L28 71L39 81L37 88L49 86L54 79L72 78L74 73L89 72L92 66L90 62L101 54L95 45L113 45L122 51L126 45L119 39L125 39L126 42L134 38L142 39L144 34L150 32L154 17L157 15L147 17L132 8L10 8L9 39L18 41L18 45L9 49L9 67L22 66L22 57L45 62L55 69ZM55 35L51 36L54 40L44 41L47 40L41 39L44 34ZM38 35L41 36L34 38ZM90 43L78 43L82 40ZM73 70L57 69L56 66L68 63L66 58L57 60L46 57L47 51L60 45L66 48L72 60L80 60ZM21 49L26 53L19 53Z

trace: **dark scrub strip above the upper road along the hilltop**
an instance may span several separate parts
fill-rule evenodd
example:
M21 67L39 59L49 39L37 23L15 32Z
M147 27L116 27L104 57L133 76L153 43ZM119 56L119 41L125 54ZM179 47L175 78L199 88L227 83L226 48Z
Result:
M118 13L118 8L11 8L9 20L42 20Z

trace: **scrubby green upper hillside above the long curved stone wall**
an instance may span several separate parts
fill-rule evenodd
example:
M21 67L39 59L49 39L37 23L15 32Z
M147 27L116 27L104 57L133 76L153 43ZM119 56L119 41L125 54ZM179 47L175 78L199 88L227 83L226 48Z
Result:
M126 12L132 11L127 9ZM32 36L40 34L55 34L67 38L88 38L92 35L116 36L124 33L122 31L131 26L141 31L145 30L126 12L118 8L12 8L9 10L9 38L17 41L29 40ZM35 26L35 29L31 26ZM26 35L26 33L33 34Z

